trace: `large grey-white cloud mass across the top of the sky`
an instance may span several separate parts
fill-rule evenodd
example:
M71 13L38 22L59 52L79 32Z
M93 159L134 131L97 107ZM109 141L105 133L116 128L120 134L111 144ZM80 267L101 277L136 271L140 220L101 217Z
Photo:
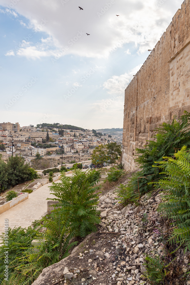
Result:
M1 2L5 6L10 4L10 0ZM139 53L153 48L180 8L179 0L173 0L172 5L166 1L160 7L156 6L158 0L117 0L105 9L107 2L96 0L92 5L91 1L81 0L84 10L80 11L73 1L62 5L60 0L25 0L18 1L14 9L30 21L30 27L48 34L55 49L68 46L64 54L102 58L108 57L121 40L123 44L133 43ZM170 9L166 9L167 2ZM6 10L17 16L13 10ZM44 52L40 54L44 56Z

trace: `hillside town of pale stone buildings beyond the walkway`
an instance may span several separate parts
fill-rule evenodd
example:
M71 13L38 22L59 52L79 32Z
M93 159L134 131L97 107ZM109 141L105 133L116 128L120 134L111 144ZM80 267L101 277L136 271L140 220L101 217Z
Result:
M3 158L18 154L30 163L39 153L42 159L53 157L58 164L62 156L64 163L80 162L91 160L96 146L120 141L120 137L96 130L63 129L63 125L57 125L57 128L46 129L31 125L20 127L19 123L0 123L0 152Z

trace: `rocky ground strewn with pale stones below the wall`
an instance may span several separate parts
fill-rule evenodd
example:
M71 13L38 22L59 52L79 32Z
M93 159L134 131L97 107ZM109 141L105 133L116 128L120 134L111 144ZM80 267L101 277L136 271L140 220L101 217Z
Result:
M150 285L142 275L147 255L162 256L169 264L164 284L190 284L189 252L184 256L180 248L170 254L165 245L169 224L156 211L161 193L142 197L138 207L129 204L121 209L116 191L100 197L97 233L87 236L69 257L44 268L33 285Z

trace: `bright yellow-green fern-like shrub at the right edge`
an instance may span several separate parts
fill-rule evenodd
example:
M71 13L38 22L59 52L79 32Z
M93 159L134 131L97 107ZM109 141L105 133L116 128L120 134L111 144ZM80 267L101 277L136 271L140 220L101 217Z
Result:
M158 207L171 220L173 232L169 243L185 245L190 250L190 151L187 146L174 154L173 158L163 157L157 167L163 170L164 178L158 182L164 194L164 202Z

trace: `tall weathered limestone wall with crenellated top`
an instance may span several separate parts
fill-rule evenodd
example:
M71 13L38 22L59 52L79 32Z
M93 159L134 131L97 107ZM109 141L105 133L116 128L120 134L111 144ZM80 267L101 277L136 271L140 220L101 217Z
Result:
M178 9L166 32L125 89L123 154L135 170L135 149L143 148L160 123L190 111L190 0Z

